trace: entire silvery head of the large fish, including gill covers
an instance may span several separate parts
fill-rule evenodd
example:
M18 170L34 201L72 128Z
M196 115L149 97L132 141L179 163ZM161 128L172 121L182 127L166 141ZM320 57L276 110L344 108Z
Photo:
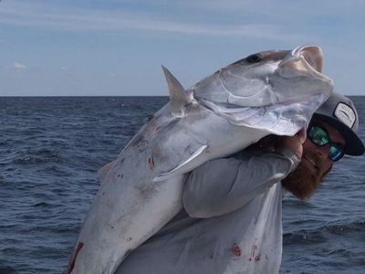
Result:
M236 125L293 135L328 99L320 47L255 53L195 84L195 100Z

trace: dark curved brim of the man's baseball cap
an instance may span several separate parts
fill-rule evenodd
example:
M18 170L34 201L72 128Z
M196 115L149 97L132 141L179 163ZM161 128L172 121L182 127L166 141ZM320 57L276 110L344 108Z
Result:
M326 121L329 124L333 125L336 130L341 133L342 137L345 139L345 154L359 156L365 152L365 147L359 136L353 132L347 125L340 122L339 120L329 117L327 115L314 113L313 118L318 118L319 120Z

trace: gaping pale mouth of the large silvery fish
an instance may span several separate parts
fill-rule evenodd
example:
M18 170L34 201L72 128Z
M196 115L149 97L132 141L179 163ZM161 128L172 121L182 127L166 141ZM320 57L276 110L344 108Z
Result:
M287 77L307 76L316 79L328 79L321 73L322 63L323 54L320 47L301 46L293 49L278 67L281 68L280 74Z

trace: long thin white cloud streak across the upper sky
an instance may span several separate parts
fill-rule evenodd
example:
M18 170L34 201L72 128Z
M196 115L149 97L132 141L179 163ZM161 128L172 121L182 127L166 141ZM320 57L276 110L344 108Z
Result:
M225 15L226 16L226 15ZM13 26L63 31L98 31L121 33L126 30L155 31L175 35L210 37L254 37L290 41L297 34L284 32L272 24L194 22L191 18L174 18L147 12L122 10L65 9L52 5L29 5L15 2L0 10L0 23Z

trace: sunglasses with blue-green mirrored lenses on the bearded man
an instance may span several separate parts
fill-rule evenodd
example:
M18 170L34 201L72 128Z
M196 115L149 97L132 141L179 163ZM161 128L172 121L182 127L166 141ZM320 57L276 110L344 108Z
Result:
M331 161L337 162L345 154L343 145L332 142L326 129L318 125L309 125L307 134L309 140L317 146L324 146L329 143L328 158Z

